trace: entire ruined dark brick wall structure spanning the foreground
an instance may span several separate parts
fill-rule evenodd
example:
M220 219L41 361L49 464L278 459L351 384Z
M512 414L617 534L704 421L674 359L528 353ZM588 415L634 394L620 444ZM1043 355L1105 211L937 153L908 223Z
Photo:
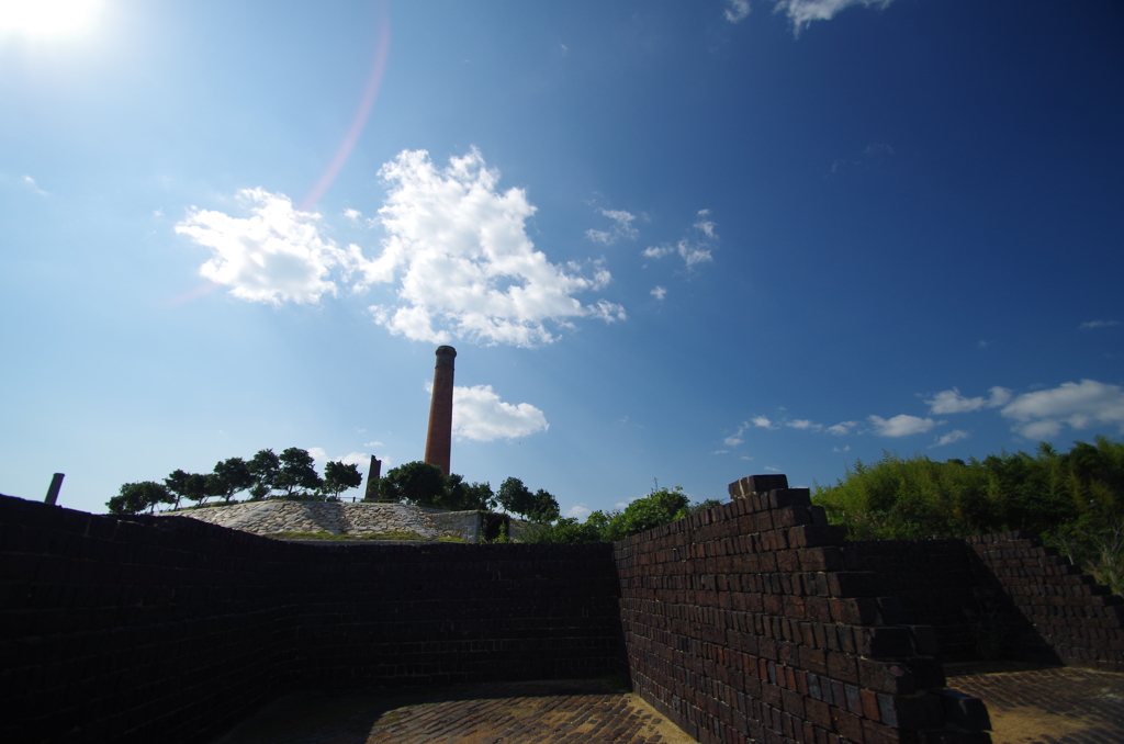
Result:
M575 546L293 544L0 497L0 741L205 742L302 688L619 674L705 744L975 744L987 710L941 663L988 634L1124 671L1124 600L1027 535L846 543L781 478Z

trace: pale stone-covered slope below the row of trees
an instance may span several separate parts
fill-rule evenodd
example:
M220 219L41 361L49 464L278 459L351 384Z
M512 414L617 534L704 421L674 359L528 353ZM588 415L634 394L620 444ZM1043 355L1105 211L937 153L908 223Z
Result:
M417 533L423 539L459 535L441 529L424 509L407 503L325 501L248 501L206 509L164 511L162 517L190 517L255 535L333 533L369 537Z

